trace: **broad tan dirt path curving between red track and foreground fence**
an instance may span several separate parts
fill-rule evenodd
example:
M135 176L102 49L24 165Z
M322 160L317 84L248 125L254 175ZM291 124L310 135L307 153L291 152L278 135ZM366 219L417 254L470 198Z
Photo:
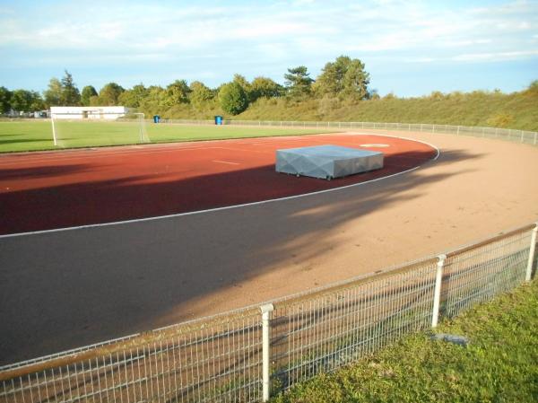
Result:
M400 136L441 156L312 197L0 241L2 361L263 302L538 220L538 148Z

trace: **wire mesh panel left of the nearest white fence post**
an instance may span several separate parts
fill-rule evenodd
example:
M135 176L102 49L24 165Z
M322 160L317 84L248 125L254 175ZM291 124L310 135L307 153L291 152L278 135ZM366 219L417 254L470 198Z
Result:
M0 372L0 381L0 401L6 403L259 401L259 313L197 321L30 366L12 365Z

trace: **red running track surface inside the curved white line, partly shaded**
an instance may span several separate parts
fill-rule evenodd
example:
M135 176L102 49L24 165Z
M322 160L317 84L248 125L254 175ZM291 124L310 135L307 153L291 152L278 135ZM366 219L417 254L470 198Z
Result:
M382 170L336 180L274 171L275 151L344 145L385 153ZM368 145L388 145L377 148ZM390 136L316 135L0 155L0 234L172 215L373 180L431 160Z

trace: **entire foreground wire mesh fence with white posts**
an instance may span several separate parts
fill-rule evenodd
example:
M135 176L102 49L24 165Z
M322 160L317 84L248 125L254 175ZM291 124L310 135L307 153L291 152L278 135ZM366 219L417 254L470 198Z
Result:
M0 367L0 401L257 402L530 280L536 224L248 307Z

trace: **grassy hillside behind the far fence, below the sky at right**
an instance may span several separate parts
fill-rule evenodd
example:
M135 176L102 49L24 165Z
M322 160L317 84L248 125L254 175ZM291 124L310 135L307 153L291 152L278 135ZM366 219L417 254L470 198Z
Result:
M164 112L164 118L213 118L223 114L216 103L206 110L180 105ZM479 127L538 130L538 82L522 92L432 92L419 98L389 94L369 101L338 98L293 101L260 99L243 113L226 118L255 120L329 120L401 123L436 123Z

